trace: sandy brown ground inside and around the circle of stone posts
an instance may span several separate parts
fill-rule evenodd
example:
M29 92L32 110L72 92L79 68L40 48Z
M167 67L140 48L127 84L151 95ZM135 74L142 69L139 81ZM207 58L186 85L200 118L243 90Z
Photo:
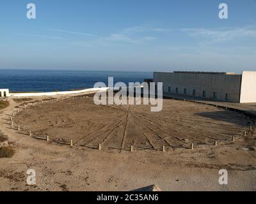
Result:
M16 150L11 159L0 159L1 191L130 191L151 184L163 191L256 190L256 131L243 136L253 121L241 113L169 99L162 112L151 113L143 105L95 106L92 96L17 113L22 103L28 101L10 99L0 112L1 132ZM31 138L29 130L51 142ZM69 140L73 148L54 142ZM26 184L30 168L36 186ZM218 183L221 169L228 170L228 185Z

